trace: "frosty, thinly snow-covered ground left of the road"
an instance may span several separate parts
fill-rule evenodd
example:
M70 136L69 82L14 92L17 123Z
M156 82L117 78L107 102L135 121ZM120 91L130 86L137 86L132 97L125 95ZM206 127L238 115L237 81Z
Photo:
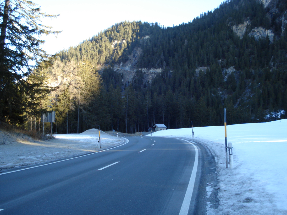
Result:
M101 148L122 143L123 138L100 132ZM98 129L81 134L55 134L53 140L33 140L27 136L0 132L0 170L38 164L56 159L97 152Z

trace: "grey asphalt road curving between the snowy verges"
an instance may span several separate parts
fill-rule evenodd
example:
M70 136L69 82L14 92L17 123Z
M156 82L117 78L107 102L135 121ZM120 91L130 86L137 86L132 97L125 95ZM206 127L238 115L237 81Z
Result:
M99 153L0 174L0 215L198 214L200 148L175 138L127 139Z

